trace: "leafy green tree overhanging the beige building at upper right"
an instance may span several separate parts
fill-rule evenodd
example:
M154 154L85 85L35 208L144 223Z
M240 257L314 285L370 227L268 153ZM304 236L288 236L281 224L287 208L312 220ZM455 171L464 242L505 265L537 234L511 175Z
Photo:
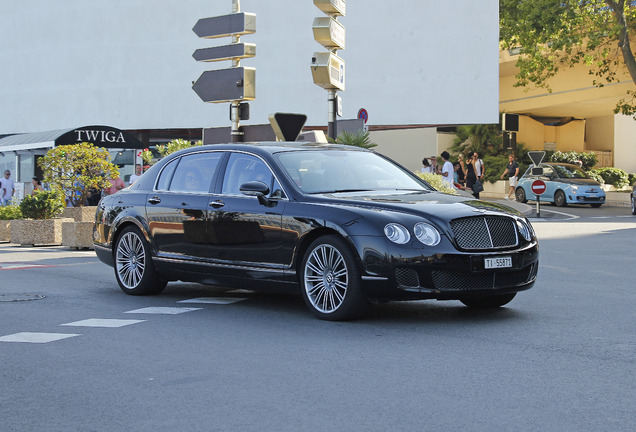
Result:
M632 0L499 0L499 20L501 47L520 52L518 87L551 91L550 78L577 64L589 67L597 87L618 81L623 67L636 83ZM628 90L615 113L635 116L635 97Z

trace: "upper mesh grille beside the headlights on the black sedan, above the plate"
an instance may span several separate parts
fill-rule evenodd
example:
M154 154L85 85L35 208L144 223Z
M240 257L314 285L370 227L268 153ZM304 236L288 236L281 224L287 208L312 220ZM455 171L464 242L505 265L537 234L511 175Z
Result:
M512 218L478 216L455 219L450 225L461 249L498 249L518 244L517 228Z

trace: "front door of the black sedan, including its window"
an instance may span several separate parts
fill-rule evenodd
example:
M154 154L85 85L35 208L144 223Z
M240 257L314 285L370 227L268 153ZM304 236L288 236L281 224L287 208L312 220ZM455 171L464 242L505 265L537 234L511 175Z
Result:
M241 185L249 181L261 181L269 187L268 204L241 193ZM222 182L210 198L208 257L237 266L284 267L288 263L281 252L281 223L286 203L278 180L261 158L232 152Z

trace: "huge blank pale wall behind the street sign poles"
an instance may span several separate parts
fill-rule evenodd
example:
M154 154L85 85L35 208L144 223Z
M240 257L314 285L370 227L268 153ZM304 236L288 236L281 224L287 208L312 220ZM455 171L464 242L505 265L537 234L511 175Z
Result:
M257 15L256 100L272 112L327 123L327 92L313 84L311 0L242 0ZM0 2L0 134L90 124L121 129L229 126L228 104L206 104L192 81L230 62L198 63L199 18L228 14L231 0L20 0ZM349 1L344 118L369 124L496 123L496 0Z

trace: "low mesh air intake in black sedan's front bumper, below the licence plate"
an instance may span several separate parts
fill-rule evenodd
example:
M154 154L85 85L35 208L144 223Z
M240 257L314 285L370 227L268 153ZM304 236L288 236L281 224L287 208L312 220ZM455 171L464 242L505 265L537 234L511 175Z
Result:
M446 270L432 272L435 289L440 291L469 291L511 288L525 285L537 277L537 264L520 271L499 273L457 273Z

